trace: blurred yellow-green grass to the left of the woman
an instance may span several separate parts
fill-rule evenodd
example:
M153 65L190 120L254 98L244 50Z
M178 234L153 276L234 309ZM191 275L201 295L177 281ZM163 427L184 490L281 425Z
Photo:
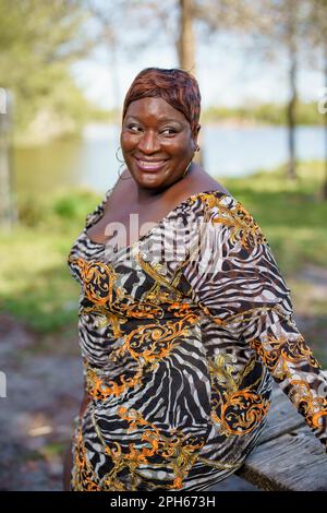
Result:
M77 320L80 286L66 259L85 216L100 196L84 190L21 199L21 220L0 240L0 311L12 313L39 333ZM40 214L41 213L41 214Z

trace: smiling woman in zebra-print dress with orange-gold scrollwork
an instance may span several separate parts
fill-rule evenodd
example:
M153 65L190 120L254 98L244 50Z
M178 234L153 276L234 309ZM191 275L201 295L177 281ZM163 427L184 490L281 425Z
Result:
M201 95L147 68L123 106L126 168L69 255L85 397L71 490L208 490L256 445L274 379L327 443L327 382L259 226L193 162Z

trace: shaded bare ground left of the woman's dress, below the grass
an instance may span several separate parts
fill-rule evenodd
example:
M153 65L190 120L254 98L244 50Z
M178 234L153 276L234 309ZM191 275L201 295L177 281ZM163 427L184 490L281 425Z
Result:
M62 453L83 385L76 337L36 336L0 318L0 489L61 490Z

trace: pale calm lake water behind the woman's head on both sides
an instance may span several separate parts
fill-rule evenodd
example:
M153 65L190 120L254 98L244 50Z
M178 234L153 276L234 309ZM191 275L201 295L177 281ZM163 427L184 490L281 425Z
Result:
M120 163L116 151L119 135L118 128L89 124L81 141L15 150L13 162L17 193L46 193L65 186L82 186L102 193L118 178ZM250 175L259 168L270 169L288 157L284 127L206 126L199 143L204 167L218 180ZM323 159L324 129L299 127L296 152L299 159Z

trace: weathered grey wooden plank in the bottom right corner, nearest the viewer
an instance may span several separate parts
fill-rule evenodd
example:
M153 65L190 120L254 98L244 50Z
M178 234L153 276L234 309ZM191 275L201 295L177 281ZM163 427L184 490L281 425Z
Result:
M305 425L258 445L235 473L262 490L327 491L327 457Z

